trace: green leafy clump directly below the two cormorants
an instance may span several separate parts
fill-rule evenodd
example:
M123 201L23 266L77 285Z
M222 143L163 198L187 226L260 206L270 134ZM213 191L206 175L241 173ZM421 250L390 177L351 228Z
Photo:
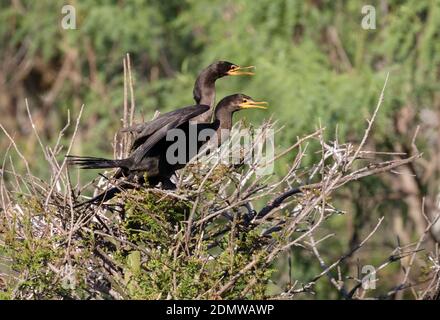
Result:
M190 240L189 248L182 249L185 243L183 221L190 209L184 201L134 191L130 192L125 207L124 233L136 247L146 250L125 250L119 255L120 263L125 265L124 278L131 298L164 299L166 293L176 299L215 298L216 288L254 257L264 254L254 248L257 242L253 233L240 234L233 243L228 237L223 238L216 252L207 248L211 239L198 243L194 243L196 239ZM232 251L228 249L231 246L235 246ZM271 268L248 272L234 285L227 298L264 298L271 274ZM252 279L257 285L248 295L242 296L243 289Z

